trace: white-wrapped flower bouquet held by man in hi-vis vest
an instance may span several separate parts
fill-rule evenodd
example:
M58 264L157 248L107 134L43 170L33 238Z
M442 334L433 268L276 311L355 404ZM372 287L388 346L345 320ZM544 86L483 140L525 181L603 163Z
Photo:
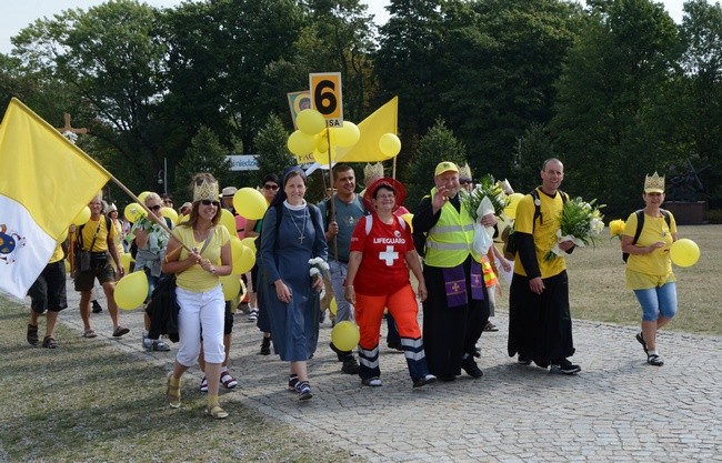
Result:
M493 213L500 215L504 208L509 204L509 199L504 193L502 187L497 183L494 178L487 174L481 178L481 181L474 187L471 192L467 190L460 191L460 200L463 207L469 211L469 214L474 221L474 240L472 249L479 254L485 254L489 248L493 244L493 230L491 228L484 229L480 220L482 217Z

